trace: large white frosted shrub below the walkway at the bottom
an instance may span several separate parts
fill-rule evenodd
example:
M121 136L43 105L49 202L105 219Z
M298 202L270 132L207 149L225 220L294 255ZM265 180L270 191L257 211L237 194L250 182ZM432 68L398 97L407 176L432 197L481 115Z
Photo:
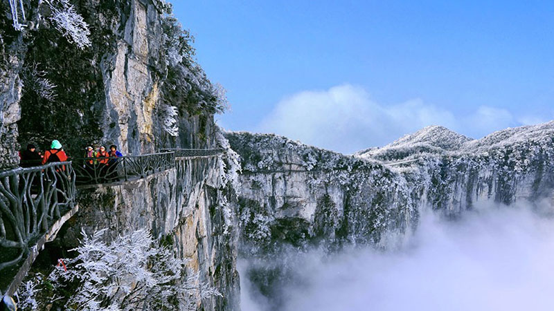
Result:
M78 255L60 261L64 265L48 276L44 287L53 290L41 303L55 301L63 310L83 311L196 310L198 301L220 295L200 282L199 274L188 271L188 260L157 247L145 230L112 243L102 241L104 232L82 232L80 246L72 250Z

